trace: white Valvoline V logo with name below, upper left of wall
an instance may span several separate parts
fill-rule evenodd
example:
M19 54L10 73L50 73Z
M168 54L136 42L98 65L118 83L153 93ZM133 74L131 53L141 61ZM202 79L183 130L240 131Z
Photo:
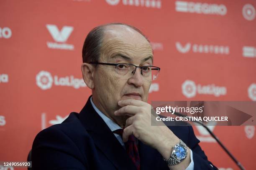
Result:
M71 26L63 26L61 30L58 29L56 25L46 25L47 30L50 32L51 37L55 42L46 42L47 46L52 49L61 50L74 50L74 45L66 44L65 42L69 38L70 34L74 30Z

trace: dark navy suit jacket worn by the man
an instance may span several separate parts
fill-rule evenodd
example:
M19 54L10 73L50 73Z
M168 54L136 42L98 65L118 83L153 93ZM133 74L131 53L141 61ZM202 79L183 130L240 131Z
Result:
M212 170L198 145L191 126L169 126L193 151L195 170ZM169 170L160 153L138 143L141 170ZM136 170L125 149L116 139L89 100L81 112L70 113L61 124L42 130L33 142L33 170Z

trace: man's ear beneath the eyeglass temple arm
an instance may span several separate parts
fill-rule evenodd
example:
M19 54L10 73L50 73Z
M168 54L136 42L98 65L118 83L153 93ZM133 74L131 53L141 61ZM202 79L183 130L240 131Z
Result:
M95 73L95 67L91 64L88 64L86 62L82 63L81 66L82 74L83 74L83 79L87 87L90 89L94 88L94 73Z

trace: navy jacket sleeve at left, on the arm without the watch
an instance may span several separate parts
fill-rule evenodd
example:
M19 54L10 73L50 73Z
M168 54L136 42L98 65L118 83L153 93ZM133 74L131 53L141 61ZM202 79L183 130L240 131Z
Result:
M32 147L33 170L86 170L86 160L74 142L61 130L47 128L36 136Z

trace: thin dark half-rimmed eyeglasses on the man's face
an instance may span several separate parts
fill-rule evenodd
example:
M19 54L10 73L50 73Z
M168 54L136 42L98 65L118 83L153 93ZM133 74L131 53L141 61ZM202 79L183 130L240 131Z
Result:
M126 63L114 64L114 63L105 63L105 62L90 62L89 64L114 65L115 72L119 80L127 80L131 78L136 72L137 67L141 69L141 75L143 77L143 80L147 80L147 81L156 80L160 72L159 67L155 67L152 65L136 66L133 64L126 64Z

